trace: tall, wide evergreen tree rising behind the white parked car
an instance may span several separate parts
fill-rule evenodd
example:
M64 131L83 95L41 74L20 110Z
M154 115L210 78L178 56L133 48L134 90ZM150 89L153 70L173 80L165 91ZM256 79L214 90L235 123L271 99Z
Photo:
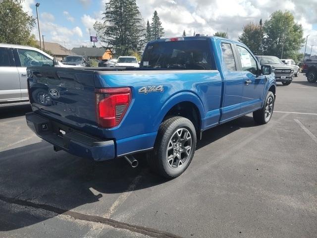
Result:
M146 33L136 0L109 0L103 14L103 22L96 22L94 28L106 47L116 56L142 51Z

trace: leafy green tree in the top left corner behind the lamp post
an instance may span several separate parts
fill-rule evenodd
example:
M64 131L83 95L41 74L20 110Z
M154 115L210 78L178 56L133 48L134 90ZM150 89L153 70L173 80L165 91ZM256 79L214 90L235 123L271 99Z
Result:
M34 25L20 0L0 0L0 43L27 45Z

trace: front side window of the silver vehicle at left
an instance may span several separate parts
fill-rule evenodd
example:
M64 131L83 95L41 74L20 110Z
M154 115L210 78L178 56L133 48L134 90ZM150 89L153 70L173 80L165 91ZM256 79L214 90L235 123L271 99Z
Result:
M18 54L22 67L53 66L53 60L37 51L18 49Z

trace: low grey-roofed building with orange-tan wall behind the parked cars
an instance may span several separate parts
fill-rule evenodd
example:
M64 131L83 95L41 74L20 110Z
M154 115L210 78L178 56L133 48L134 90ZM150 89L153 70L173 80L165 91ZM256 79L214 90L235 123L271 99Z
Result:
M79 48L73 48L71 51L78 56L87 56L90 59L96 59L96 60L112 59L111 50L104 47L100 47L100 48L79 47Z

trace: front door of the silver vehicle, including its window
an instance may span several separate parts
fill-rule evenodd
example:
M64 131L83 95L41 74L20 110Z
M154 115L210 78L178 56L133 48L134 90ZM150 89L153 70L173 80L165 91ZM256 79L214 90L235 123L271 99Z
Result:
M53 60L30 49L14 49L14 57L18 62L21 85L21 100L29 100L26 68L30 66L53 66Z

